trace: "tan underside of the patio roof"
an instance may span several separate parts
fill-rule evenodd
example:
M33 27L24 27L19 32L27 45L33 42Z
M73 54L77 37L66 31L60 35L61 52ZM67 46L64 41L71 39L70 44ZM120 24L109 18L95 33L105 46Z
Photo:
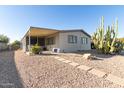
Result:
M51 29L39 29L39 28L31 28L30 29L30 36L48 36L50 34L54 34L59 32L58 30L51 30ZM27 33L29 35L29 32Z

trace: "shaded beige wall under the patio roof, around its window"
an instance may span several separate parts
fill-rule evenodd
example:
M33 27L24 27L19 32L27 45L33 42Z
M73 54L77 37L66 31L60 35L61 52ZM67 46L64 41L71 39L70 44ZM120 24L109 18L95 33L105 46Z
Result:
M53 44L53 45L46 45L46 44L45 44L45 45L47 46L47 49L48 49L49 51L52 51L53 48L59 48L59 33L49 35L49 36L47 36L47 37L45 38L45 40L46 40L47 38L50 38L50 37L54 37L54 38L55 38L55 44Z

